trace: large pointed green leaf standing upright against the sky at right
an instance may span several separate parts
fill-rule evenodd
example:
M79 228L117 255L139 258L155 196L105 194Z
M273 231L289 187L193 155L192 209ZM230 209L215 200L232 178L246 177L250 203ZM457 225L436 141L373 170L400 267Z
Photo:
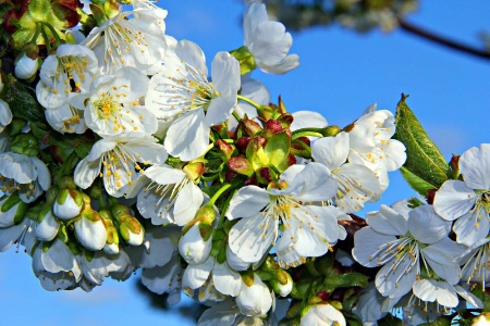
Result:
M404 176L409 178L408 184L420 195L427 196L427 188L441 187L449 179L451 170L441 151L405 103L406 98L403 95L396 108L396 134L393 138L406 147L407 159L403 166Z

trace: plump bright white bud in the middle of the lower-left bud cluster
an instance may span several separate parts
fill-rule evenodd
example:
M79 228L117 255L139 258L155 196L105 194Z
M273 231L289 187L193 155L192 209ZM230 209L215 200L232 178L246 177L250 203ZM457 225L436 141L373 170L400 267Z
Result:
M96 251L106 246L106 226L99 213L88 209L79 214L79 220L75 222L75 235L79 244L84 248Z

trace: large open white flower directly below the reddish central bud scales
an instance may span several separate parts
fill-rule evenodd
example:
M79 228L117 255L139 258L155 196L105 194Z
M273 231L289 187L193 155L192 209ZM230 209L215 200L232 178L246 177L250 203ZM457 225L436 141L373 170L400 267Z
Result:
M236 220L229 235L230 249L247 263L262 259L284 231L277 247L282 266L295 266L305 256L324 254L339 237L336 212L331 206L306 204L331 199L336 183L324 165L292 165L280 177L281 189L246 186L230 202L226 217Z

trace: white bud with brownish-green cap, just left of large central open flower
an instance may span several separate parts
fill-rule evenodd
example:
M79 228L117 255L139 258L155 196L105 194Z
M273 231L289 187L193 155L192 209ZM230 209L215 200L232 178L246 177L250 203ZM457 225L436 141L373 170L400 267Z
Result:
M204 234L204 236L203 236ZM205 237L208 239L205 240ZM203 263L212 249L212 229L209 224L195 223L179 240L179 252L192 265Z

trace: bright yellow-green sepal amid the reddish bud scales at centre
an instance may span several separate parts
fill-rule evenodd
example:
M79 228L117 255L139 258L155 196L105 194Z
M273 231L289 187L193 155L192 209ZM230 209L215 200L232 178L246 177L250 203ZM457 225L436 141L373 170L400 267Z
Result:
M272 136L264 148L270 168L280 173L290 166L291 134L280 131Z

